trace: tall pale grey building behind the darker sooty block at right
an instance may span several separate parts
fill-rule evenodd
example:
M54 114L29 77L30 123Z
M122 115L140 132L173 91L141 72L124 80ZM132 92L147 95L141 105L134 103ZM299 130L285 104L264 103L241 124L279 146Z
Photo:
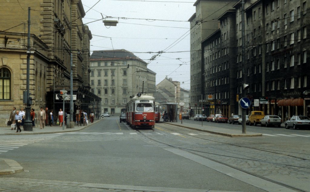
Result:
M196 7L196 12L189 18L190 22L190 70L191 70L191 88L190 88L190 106L192 114L201 113L200 100L205 100L204 98L204 83L205 75L202 54L201 42L205 38L209 37L216 30L218 30L217 19L225 11L231 9L234 2L227 3L224 0L218 0L216 3L211 0L197 0L193 6ZM210 4L212 3L210 6Z

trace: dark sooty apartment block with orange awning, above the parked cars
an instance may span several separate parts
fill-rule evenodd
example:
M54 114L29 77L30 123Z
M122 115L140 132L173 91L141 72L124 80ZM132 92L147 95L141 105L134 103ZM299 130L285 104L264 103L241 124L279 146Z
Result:
M201 61L205 61L203 70L207 75L205 89L201 89L201 93L213 95L213 92L218 92L213 98L224 102L227 100L228 110L220 105L220 112L225 114L230 114L229 109L234 114L241 114L238 99L243 95L242 92L246 92L246 97L252 101L264 100L258 106L252 104L248 110L263 110L266 114L279 115L283 120L292 115L309 116L309 98L303 94L309 90L308 7L306 0L245 1L245 44L242 45L241 3L233 5L234 10L219 17L219 27L215 28L218 31L201 43L205 50ZM229 34L226 43L225 33ZM216 39L220 44L216 46L215 42L213 46ZM228 48L227 58L225 52L222 54L224 47ZM220 70L215 68L213 72L213 66L219 66ZM224 73L225 66L230 71L228 74ZM225 80L227 75L229 78L225 89L229 90L229 94L226 94L229 98L225 98L225 92L223 95L222 91L218 91L221 85L225 86L222 78ZM213 79L221 84L216 86L216 80ZM215 86L212 86L212 81ZM244 83L250 85L248 90L243 89ZM214 91L215 88L217 91Z

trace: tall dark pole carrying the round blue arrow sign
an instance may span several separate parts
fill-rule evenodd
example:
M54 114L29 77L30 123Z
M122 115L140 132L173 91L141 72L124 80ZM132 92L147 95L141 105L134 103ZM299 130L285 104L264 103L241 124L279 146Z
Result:
M242 97L246 97L246 90L244 89L244 84L246 83L246 74L244 70L244 47L245 47L245 22L244 22L244 0L242 0L241 3L241 25L242 25L242 45L241 45L241 51L242 51ZM246 133L246 109L242 108L242 133Z

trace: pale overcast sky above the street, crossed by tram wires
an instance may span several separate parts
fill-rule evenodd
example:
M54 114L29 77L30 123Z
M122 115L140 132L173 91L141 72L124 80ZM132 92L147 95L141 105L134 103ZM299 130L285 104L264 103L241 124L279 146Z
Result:
M188 19L195 13L195 1L82 0L93 38L91 51L125 49L148 64L156 84L166 76L190 88L190 29ZM92 8L91 8L92 7ZM102 16L118 20L106 27ZM150 60L158 52L164 51ZM184 83L183 83L184 82Z

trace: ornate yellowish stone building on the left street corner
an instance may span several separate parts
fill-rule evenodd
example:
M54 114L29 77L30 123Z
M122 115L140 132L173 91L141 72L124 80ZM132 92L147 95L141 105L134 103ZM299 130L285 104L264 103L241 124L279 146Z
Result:
M34 109L62 108L56 94L70 93L70 54L73 56L73 95L79 108L98 109L100 98L89 92L89 41L91 32L83 25L85 11L79 1L0 0L0 123L12 107L24 106L26 90L27 21L30 7L30 83ZM3 83L3 84L2 84ZM96 105L97 104L97 105ZM92 109L89 106L92 105ZM69 103L65 105L66 111ZM77 106L73 109L75 112ZM55 115L57 118L57 115Z

